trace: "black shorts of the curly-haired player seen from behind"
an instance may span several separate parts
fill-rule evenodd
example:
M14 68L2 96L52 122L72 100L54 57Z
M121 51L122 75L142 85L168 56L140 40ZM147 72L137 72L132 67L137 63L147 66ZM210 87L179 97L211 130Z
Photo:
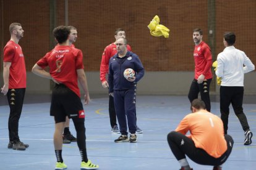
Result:
M50 115L55 123L65 122L69 118L85 118L80 97L64 84L56 84L51 96Z

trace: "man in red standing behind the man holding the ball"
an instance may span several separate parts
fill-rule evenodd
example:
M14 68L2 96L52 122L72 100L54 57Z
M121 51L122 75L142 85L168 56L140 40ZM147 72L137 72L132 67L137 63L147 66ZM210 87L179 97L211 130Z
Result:
M118 28L114 33L114 38L126 38L126 32L122 28ZM116 41L109 44L105 47L105 50L102 54L101 58L101 64L100 64L100 80L103 88L108 87L108 81L106 80L106 75L108 75L108 63L109 59L113 57L116 53ZM127 44L127 50L132 51L131 47ZM109 95L109 105L108 105L108 111L109 111L109 119L110 119L110 125L111 125L111 131L114 133L119 133L119 129L116 123L116 110L114 108L114 97ZM137 117L136 117L137 119ZM136 126L136 133L142 134L143 131L138 126Z

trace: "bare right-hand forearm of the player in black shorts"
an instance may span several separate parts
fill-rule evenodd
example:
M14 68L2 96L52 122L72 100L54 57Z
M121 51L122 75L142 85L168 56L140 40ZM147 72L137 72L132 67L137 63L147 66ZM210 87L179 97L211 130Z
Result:
M86 105L90 101L90 95L88 91L87 78L85 76L85 71L83 71L83 69L78 69L77 76L78 76L79 83L82 86L83 91L85 92L85 105Z

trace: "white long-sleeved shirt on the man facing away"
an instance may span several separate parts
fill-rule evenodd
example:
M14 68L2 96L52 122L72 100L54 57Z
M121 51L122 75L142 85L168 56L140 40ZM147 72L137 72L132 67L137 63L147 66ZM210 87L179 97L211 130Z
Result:
M255 69L246 54L234 46L218 54L217 62L215 74L221 78L221 86L244 86L244 73Z

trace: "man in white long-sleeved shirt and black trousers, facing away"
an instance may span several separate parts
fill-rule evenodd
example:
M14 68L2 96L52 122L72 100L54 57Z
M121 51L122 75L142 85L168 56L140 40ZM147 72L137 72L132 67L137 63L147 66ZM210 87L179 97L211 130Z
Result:
M227 134L229 105L231 103L245 132L244 145L250 145L252 144L252 132L242 108L242 100L244 97L244 73L254 70L255 66L243 51L234 47L235 42L236 35L234 33L224 33L223 43L226 48L217 57L218 66L215 73L221 78L221 119L224 133Z

